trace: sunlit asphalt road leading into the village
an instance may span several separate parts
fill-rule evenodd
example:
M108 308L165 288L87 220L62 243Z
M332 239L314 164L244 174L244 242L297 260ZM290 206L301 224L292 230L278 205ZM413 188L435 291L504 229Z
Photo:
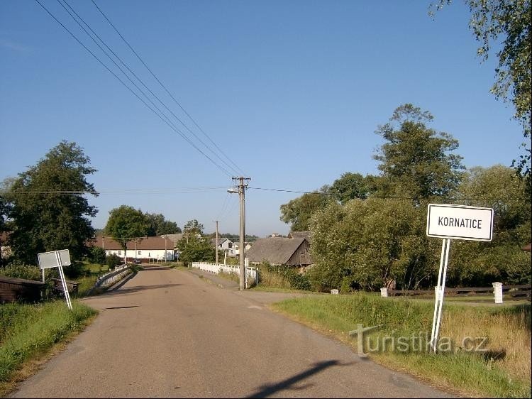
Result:
M450 396L270 312L275 295L143 270L84 300L100 310L94 323L11 397Z

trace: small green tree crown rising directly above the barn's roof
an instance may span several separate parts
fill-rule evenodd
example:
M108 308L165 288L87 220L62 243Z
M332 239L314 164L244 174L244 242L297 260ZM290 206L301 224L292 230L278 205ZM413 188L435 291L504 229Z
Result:
M316 192L306 193L289 201L287 204L282 204L280 207L280 219L284 223L291 223L290 229L292 231L308 230L312 214L333 201L333 197L329 195L328 190L328 186L323 186Z

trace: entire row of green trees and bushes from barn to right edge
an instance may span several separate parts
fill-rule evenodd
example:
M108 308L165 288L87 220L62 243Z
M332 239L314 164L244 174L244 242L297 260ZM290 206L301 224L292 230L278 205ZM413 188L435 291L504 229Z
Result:
M399 106L376 133L379 175L348 172L331 185L280 207L292 231L311 231L315 262L308 277L316 290L430 288L436 282L441 241L426 236L429 203L494 209L491 242L453 241L448 282L486 286L531 282L531 197L514 168L466 170L458 141L428 124L433 116Z

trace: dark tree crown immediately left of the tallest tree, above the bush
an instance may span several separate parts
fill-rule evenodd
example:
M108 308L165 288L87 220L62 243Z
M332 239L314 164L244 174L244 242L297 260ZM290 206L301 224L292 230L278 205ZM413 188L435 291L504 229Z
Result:
M360 173L343 173L331 185L330 192L341 204L358 198L365 200L377 191L377 176L362 176Z

